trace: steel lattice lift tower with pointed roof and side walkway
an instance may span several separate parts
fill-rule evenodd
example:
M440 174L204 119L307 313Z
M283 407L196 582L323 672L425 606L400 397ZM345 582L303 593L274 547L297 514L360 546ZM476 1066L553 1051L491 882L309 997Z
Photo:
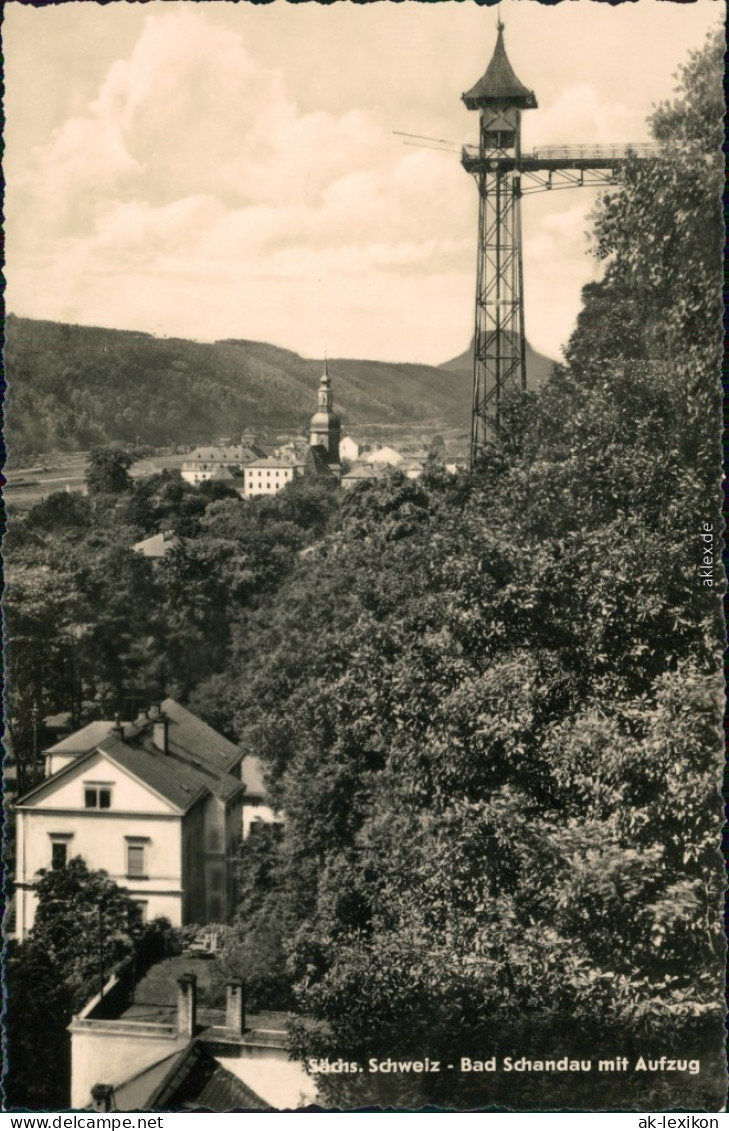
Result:
M544 189L614 183L628 159L660 156L663 147L547 147L521 149L521 112L537 98L517 78L497 24L496 46L485 74L462 95L479 111L478 146L461 163L478 185L478 261L474 335L474 404L470 466L489 434L497 433L504 396L527 388L521 198Z

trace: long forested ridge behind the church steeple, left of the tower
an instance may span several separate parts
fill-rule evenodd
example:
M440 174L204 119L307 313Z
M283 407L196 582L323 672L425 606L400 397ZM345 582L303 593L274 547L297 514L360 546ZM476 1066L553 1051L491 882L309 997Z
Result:
M211 344L9 316L14 452L110 441L165 446L295 429L313 411L322 362L261 342ZM470 375L429 365L330 359L348 426L467 428Z

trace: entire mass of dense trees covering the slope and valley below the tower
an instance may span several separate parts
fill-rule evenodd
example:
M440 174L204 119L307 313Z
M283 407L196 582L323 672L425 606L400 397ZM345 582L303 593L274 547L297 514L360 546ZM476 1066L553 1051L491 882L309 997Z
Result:
M330 1073L332 1104L723 1103L718 534L721 43L595 218L565 363L470 477L338 499L170 474L12 535L10 722L153 688L262 758L226 974L302 1059L698 1057L698 1073ZM107 484L109 487L109 484ZM134 538L172 529L158 563ZM717 545L717 544L714 544Z

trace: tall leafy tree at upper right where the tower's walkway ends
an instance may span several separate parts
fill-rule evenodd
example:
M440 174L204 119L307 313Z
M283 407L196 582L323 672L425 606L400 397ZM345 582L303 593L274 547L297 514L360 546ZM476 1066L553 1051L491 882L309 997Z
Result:
M719 466L718 443L711 448L708 439L719 429L723 95L717 75L723 51L720 28L691 54L678 76L678 98L659 105L650 121L666 154L630 164L622 191L605 195L595 223L597 254L608 266L592 294L626 296L632 311L624 304L618 337L637 330L670 375L682 454L706 485ZM584 318L590 309L588 301ZM617 319L610 323L617 327ZM579 328L567 361L575 349L587 357L589 348L590 336Z

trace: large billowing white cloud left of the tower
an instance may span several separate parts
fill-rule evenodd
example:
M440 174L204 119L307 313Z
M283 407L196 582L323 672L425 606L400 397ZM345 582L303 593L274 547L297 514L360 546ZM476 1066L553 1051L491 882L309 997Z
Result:
M361 111L300 114L279 70L180 8L147 19L86 113L34 155L10 209L9 297L45 317L296 348L339 311L341 352L415 359L429 340L437 360L468 334L468 312L433 296L462 275L470 192L451 155L406 149Z

